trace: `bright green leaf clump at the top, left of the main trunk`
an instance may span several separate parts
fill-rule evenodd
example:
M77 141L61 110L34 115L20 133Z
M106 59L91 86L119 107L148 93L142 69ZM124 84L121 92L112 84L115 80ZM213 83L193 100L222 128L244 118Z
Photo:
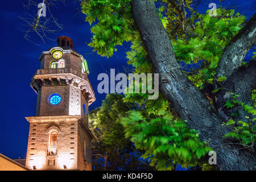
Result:
M130 0L87 0L82 2L81 6L82 12L87 15L86 21L90 24L97 21L97 26L91 29L94 35L89 46L94 47L98 54L112 56L116 50L115 46L131 40L129 23L133 19L133 14Z

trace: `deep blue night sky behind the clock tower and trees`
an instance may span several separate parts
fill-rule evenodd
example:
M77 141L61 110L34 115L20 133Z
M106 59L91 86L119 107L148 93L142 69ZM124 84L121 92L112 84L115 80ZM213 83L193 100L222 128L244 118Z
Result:
M28 17L25 13L35 13L36 6L31 6L30 10L23 8L22 1L2 1L1 2L1 89L0 89L0 153L9 158L26 158L27 140L29 123L24 117L34 116L36 110L36 93L30 87L31 77L40 68L38 60L42 51L57 46L56 39L64 35L64 31L54 34L48 34L49 39L44 39L43 43L35 34L31 35L31 40L39 45L24 39L27 30L24 22L18 17ZM42 1L38 1L42 2ZM51 13L58 22L67 26L67 36L73 40L74 49L85 57L89 67L89 80L96 93L96 102L90 105L89 110L101 105L105 94L97 93L97 75L99 73L109 73L110 68L115 68L116 72L122 71L126 64L126 51L129 49L129 43L123 43L119 46L114 56L107 59L97 53L92 52L86 43L90 42L92 34L90 25L85 22L85 15L80 13L79 3L76 1L66 1L63 5L59 3L51 8ZM220 5L219 1L202 1L199 11L204 13L208 9L210 2ZM255 1L232 1L225 0L221 2L222 6L236 6L235 9L240 13L250 17L256 11ZM48 11L46 13L48 16Z

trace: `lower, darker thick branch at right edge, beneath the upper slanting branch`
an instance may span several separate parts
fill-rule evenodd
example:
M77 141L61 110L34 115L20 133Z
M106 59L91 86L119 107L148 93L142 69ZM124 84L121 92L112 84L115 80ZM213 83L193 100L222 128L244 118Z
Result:
M250 61L247 66L240 67L236 72L228 77L227 80L221 82L221 89L213 97L214 105L218 110L218 113L222 115L226 120L230 119L230 115L238 110L236 119L238 121L246 121L246 116L251 116L249 113L244 111L241 106L236 106L232 110L224 107L226 101L231 101L232 97L230 93L239 95L237 101L243 102L247 105L253 106L253 100L251 98L251 92L256 88L256 60Z

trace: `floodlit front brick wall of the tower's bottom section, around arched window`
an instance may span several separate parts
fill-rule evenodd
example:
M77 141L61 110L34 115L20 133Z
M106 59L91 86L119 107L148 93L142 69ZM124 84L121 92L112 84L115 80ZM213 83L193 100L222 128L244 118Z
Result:
M77 169L77 127L78 122L31 122L26 167L49 170L64 169L65 165L67 169ZM53 130L57 131L57 154L48 155L49 134Z

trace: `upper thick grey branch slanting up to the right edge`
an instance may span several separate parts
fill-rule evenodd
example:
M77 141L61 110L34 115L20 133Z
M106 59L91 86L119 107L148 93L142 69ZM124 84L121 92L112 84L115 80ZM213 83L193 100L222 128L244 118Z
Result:
M242 64L246 53L256 43L256 14L245 24L236 36L225 47L218 66L216 68L217 77L229 77L236 72Z

